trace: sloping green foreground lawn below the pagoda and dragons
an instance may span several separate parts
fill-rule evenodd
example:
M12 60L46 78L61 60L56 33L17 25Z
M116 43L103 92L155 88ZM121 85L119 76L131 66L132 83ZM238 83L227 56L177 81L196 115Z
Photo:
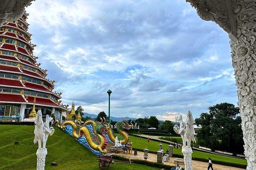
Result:
M34 128L31 125L0 125L0 170L36 169L38 144L34 145L33 142ZM56 127L54 129L46 144L46 170L99 169L97 156L66 132ZM15 145L15 141L19 141L19 144ZM58 166L51 166L51 162L58 163ZM133 166L134 169L160 169L139 164L110 164L110 169L133 169Z

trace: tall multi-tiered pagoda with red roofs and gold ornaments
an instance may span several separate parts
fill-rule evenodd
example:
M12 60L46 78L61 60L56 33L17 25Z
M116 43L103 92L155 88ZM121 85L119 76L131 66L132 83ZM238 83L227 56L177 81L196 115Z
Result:
M30 112L34 98L35 110L41 108L43 117L54 114L61 120L62 112L68 109L58 101L61 93L52 92L55 81L46 79L47 70L36 63L36 45L30 42L27 16L24 14L18 21L6 22L0 28L0 121L33 118Z

